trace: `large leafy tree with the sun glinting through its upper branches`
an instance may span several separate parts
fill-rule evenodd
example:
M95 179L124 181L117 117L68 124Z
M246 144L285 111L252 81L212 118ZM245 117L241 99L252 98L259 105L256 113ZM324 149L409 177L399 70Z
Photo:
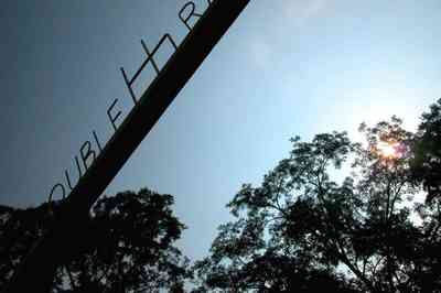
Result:
M245 184L228 204L237 220L194 267L197 290L441 292L440 202L411 206L415 135L396 117L361 130L366 145L294 138L260 186ZM338 169L351 175L338 182Z

